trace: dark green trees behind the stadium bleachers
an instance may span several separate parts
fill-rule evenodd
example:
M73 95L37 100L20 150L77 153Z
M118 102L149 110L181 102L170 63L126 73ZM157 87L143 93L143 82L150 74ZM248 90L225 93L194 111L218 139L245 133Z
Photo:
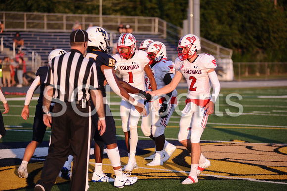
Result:
M159 17L183 27L188 1L102 0L102 14ZM99 0L0 0L1 11L99 14L99 7ZM233 49L236 62L286 62L286 10L286 0L200 0L200 33Z

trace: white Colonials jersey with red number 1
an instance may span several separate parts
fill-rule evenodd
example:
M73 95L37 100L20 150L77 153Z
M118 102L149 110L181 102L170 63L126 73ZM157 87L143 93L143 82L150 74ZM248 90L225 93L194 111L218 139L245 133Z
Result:
M122 59L119 54L113 55L116 59L116 69L123 76L123 80L131 86L146 91L144 81L144 67L149 64L146 52L136 50L131 59Z

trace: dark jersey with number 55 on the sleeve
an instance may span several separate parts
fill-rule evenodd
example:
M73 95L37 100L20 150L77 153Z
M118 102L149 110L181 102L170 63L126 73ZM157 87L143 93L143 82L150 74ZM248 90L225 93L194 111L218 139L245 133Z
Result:
M104 88L104 80L106 79L103 72L101 71L101 66L106 65L110 67L114 67L116 60L110 56L109 54L105 54L101 51L91 51L87 50L86 58L94 61L96 63L96 70L97 70L97 79L98 79L98 86L101 90L103 97L106 96L105 88Z

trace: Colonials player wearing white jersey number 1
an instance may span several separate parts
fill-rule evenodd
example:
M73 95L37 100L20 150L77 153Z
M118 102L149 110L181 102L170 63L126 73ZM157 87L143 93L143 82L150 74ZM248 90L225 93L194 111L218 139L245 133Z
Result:
M156 90L157 86L149 67L148 55L144 51L136 50L136 47L136 38L131 33L124 33L119 37L117 42L119 53L113 55L113 58L117 61L116 70L122 75L123 81L143 91L146 90L145 72L150 79L151 89ZM131 96L144 103L144 99L139 98L137 95L131 94ZM138 168L135 155L138 143L137 125L141 115L132 104L124 99L121 101L120 112L129 155L128 164L123 170L131 172L133 169Z

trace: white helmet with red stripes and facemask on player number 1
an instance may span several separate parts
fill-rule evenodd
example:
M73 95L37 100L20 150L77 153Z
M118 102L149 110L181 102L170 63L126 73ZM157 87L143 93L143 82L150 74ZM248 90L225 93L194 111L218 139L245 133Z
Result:
M127 59L134 54L137 47L136 42L136 38L131 33L124 33L120 36L117 48L121 58Z

